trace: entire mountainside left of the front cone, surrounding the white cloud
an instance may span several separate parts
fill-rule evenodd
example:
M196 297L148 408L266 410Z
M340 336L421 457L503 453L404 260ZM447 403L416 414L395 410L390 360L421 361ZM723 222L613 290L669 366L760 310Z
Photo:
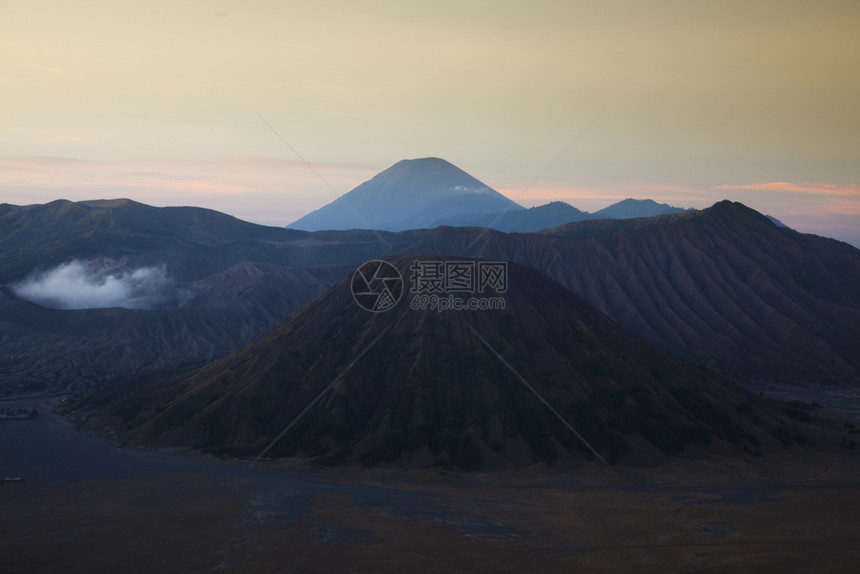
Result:
M359 263L413 243L416 236L312 234L207 209L123 199L4 204L0 394L80 391L211 361L259 337ZM45 272L70 264L79 271L160 269L160 308L63 311L16 295L23 280L44 284ZM104 291L104 276L54 275L55 294L83 290L93 306L122 304L96 296Z

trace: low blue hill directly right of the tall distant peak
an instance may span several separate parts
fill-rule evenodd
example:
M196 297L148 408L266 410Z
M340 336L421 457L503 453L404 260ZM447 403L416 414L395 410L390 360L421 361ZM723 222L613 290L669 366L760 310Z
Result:
M499 231L528 233L551 227L558 227L573 221L591 218L591 214L580 211L563 201L553 201L523 210L509 210L504 213L459 215L450 219L440 219L433 224L451 227L492 227Z

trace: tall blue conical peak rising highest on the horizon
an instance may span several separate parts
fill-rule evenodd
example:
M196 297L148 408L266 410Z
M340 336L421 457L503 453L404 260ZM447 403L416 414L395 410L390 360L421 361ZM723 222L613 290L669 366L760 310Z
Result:
M463 214L523 209L455 165L429 157L399 161L288 227L401 231Z

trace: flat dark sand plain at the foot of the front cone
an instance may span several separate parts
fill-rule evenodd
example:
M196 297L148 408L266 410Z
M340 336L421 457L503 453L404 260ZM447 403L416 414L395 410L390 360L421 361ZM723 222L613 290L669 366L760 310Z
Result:
M0 421L8 572L851 572L860 460L318 468L122 448L50 405Z

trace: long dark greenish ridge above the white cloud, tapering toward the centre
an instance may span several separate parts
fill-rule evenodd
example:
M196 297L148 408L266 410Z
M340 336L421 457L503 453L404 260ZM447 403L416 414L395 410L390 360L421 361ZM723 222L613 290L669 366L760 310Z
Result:
M194 281L241 263L355 264L412 242L409 234L311 234L248 223L199 207L134 201L57 200L0 210L0 284L71 259L108 257L130 266L166 265Z

